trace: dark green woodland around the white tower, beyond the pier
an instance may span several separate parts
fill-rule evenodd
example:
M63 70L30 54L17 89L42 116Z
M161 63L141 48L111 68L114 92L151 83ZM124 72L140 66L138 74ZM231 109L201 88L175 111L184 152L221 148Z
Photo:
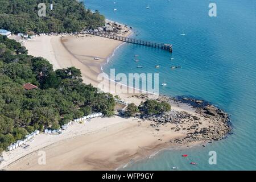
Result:
M38 15L39 3L45 3L46 16ZM0 5L0 27L13 33L79 32L105 24L103 15L76 0L55 0L53 10L47 0L0 0Z

